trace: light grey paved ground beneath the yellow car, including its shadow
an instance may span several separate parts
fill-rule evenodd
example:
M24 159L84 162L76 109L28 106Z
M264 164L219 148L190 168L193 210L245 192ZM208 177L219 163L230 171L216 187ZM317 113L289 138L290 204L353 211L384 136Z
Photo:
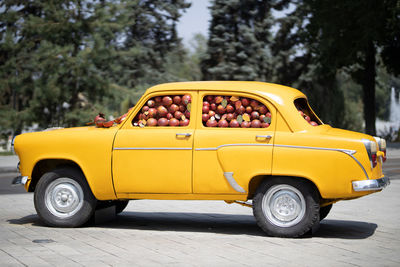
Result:
M250 208L220 201L131 201L114 221L49 228L33 195L9 187L14 173L3 172L0 265L400 266L398 155L385 164L388 188L335 204L319 231L301 239L266 237Z

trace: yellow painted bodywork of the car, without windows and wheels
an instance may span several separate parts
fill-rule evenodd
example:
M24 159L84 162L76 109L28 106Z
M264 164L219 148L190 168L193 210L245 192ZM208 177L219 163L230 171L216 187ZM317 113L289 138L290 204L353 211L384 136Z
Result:
M189 126L139 128L132 125L133 118L149 98L185 93L192 96ZM271 125L265 129L203 126L202 99L213 94L262 102L272 114ZM321 196L331 202L371 193L352 190L352 181L366 179L357 162L346 153L327 148L354 150L353 156L362 164L368 178L377 179L383 176L382 163L378 160L372 169L361 142L361 139L375 142L373 137L329 125L309 125L293 104L295 99L305 97L296 89L261 82L162 84L148 89L121 125L109 129L77 127L22 134L15 139L15 150L21 161L21 174L29 179L41 160L75 162L93 194L101 200L243 201L248 197L249 182L258 175L303 177L312 181ZM382 157L383 153L377 155ZM232 172L237 185L246 193L237 192L224 172Z

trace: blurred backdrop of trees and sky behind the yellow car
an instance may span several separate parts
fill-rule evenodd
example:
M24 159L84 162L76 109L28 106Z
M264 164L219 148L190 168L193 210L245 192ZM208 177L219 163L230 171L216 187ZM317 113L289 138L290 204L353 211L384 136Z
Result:
M292 86L325 123L399 141L400 1L0 2L0 151L195 80Z

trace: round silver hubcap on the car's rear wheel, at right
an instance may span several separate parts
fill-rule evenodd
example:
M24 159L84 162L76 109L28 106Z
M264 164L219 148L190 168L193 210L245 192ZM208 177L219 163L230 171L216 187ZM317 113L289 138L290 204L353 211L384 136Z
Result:
M290 227L303 219L306 202L300 191L293 186L275 185L264 195L262 209L265 217L272 224Z

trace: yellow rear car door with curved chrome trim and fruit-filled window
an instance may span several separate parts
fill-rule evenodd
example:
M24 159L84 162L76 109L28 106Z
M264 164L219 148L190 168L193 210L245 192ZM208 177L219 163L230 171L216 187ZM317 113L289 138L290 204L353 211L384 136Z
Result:
M275 107L265 99L247 93L200 92L198 101L199 109L203 106L203 114L201 120L200 114L197 118L194 142L194 193L245 194L251 178L271 174ZM205 105L209 108L204 108ZM257 118L260 115L263 116ZM230 120L228 126L220 122L224 117L227 122ZM238 126L231 124L235 118L240 124L237 128L231 127ZM210 120L217 121L221 127ZM242 125L245 121L248 122ZM254 126L263 121L265 128L241 127L249 123L251 126L253 121Z

